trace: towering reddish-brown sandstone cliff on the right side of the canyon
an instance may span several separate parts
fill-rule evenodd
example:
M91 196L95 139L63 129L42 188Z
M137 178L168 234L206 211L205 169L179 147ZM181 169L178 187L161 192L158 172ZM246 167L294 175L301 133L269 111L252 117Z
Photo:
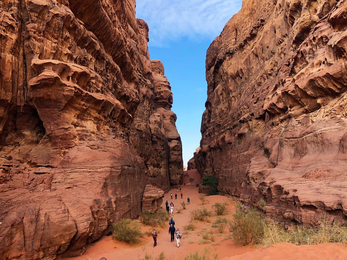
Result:
M206 55L197 169L268 215L347 215L347 1L244 0Z

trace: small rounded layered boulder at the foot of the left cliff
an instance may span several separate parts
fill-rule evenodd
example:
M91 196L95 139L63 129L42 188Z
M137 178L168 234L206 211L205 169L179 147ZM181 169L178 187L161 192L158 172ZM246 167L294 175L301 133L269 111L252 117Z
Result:
M155 212L163 203L164 191L151 184L147 184L143 192L142 210Z

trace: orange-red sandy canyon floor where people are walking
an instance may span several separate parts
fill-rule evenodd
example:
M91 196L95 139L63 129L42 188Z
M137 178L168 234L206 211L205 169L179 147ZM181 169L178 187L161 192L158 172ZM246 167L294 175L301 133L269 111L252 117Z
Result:
M189 177L196 179L195 183L200 184L200 175L196 170L185 171ZM189 177L184 177L183 183L189 183ZM170 242L170 235L168 234L167 227L156 227L159 231L157 243L158 245L153 248L152 236L144 236L141 238L138 244L129 245L124 242L113 240L111 236L101 237L98 241L94 242L91 247L86 249L85 254L80 257L65 258L64 260L99 260L104 257L107 260L137 260L143 259L145 254L158 256L161 252L164 252L166 259L180 260L184 259L185 255L190 252L202 252L204 248L208 248L211 254L218 253L218 258L222 260L345 260L347 259L347 247L337 243L325 243L319 245L301 245L296 246L289 243L280 243L273 246L255 248L254 246L243 246L232 242L231 239L226 239L230 235L229 229L226 228L222 234L215 228L212 228L212 223L217 218L216 214L212 210L212 205L215 202L228 202L228 212L222 217L232 219L234 213L233 201L225 196L209 196L206 199L209 202L202 205L199 197L205 196L205 194L199 194L198 188L195 186L181 186L183 199L180 198L180 192L177 192L177 199L170 198L170 193L174 195L176 188L172 189L165 194L162 207L165 208L165 201L168 200L174 203L174 214L170 214L175 220L175 227L180 229L182 239L179 248L177 248L176 241ZM186 209L181 210L180 213L176 213L178 208L181 208L180 203L185 201L187 203L187 197L190 198L191 203L186 206ZM209 217L208 221L197 221L189 217L189 211L194 208L205 207L212 210L213 214ZM196 226L194 231L185 231L184 225L193 223ZM142 226L142 231L149 231L152 227ZM200 244L202 239L201 231L203 228L212 230L215 241L213 243Z

